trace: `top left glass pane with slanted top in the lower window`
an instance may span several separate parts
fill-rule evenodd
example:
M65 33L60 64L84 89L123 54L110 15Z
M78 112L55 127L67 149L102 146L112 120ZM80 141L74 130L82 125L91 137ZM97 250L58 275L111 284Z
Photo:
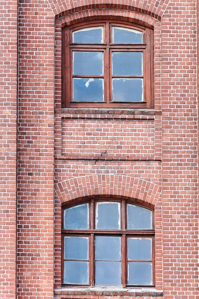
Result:
M89 204L64 210L64 229L89 229Z

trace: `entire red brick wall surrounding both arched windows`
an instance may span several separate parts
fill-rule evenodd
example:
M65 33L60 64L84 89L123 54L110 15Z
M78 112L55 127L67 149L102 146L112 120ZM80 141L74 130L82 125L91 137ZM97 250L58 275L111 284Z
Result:
M17 7L10 3L2 10L0 36L5 53L1 195L8 197L2 205L2 298L15 298L16 268ZM18 299L197 299L196 5L194 0L19 1ZM154 109L61 109L61 28L99 18L154 28ZM154 208L156 290L60 289L61 204L100 195L123 195Z

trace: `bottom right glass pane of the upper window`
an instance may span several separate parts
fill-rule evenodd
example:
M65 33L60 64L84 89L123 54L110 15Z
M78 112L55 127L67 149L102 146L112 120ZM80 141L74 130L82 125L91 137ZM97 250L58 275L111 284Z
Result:
M142 102L143 79L112 79L112 100L115 102Z

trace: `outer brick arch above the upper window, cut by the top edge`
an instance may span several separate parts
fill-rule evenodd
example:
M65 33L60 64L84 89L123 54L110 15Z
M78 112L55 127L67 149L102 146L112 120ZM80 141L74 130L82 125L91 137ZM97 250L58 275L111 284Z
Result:
M158 20L161 19L168 3L169 0L131 0L130 2L127 0L89 0L85 5L85 1L82 0L49 1L56 18L86 10L116 9L120 16L124 11L137 11Z

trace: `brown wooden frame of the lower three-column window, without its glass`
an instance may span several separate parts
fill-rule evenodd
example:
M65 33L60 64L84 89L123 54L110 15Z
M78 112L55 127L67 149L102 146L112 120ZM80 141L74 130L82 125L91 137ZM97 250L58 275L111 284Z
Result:
M120 229L114 230L102 230L95 228L95 219L96 219L96 204L98 202L120 202ZM76 230L76 229L64 229L64 210L70 207L75 207L80 204L89 203L89 224L90 229L88 230ZM152 211L152 228L151 229L127 229L127 204L140 206L142 208ZM79 236L79 237L88 237L89 238L89 284L88 285L70 285L63 284L64 280L64 237L67 236ZM87 201L81 201L76 204L65 205L62 207L62 286L63 287L99 287L95 286L95 236L120 236L121 237L121 285L113 286L113 288L154 288L155 287L155 229L154 229L154 210L146 207L144 205L135 204L132 201L125 199L91 199ZM151 260L128 260L127 258L127 238L136 237L136 238L150 238L152 240L152 258ZM78 261L78 260L76 260ZM86 261L86 260L85 260ZM150 262L152 263L152 284L150 285L128 285L127 284L127 263L130 262ZM103 286L104 287L104 286ZM105 286L105 288L112 288L112 286Z

